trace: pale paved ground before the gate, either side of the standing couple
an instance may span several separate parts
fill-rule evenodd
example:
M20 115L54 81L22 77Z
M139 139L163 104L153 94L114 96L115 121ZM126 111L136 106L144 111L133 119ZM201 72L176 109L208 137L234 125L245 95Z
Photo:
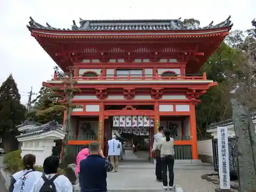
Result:
M162 183L156 182L155 165L150 163L121 163L118 173L108 173L108 190L162 190ZM175 184L184 191L215 191L215 184L201 179L204 173L211 173L210 166L182 166L175 168Z

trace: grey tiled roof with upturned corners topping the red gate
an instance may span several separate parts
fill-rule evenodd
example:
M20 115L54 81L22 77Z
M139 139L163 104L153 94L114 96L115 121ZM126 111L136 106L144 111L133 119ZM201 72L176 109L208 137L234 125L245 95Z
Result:
M191 27L184 25L179 19L165 19L165 20L83 20L80 18L78 27L73 20L71 29L54 28L46 23L47 26L36 23L32 17L27 27L29 29L41 29L50 31L173 31L173 30L205 30L205 29L220 29L231 27L230 16L217 25Z

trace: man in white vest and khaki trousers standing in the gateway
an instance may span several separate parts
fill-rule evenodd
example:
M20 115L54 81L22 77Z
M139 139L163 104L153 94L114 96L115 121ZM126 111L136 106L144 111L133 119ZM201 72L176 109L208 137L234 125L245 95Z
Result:
M116 140L116 135L112 136L112 139L108 141L108 146L109 146L109 157L110 157L110 162L114 169L112 172L117 172L118 171L118 159L120 155L120 143L118 140Z

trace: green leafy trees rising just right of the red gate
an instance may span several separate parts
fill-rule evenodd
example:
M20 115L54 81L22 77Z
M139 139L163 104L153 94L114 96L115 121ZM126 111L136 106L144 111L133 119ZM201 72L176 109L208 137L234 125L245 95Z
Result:
M253 30L246 32L247 36L243 31L232 31L201 68L208 79L218 82L218 86L211 87L199 98L201 102L196 106L201 138L208 137L206 129L210 123L231 118L231 97L242 103L246 101L251 111L256 110L256 90L253 89L256 86L256 70L248 65L247 54L241 50L245 43L246 48L251 48L255 38Z

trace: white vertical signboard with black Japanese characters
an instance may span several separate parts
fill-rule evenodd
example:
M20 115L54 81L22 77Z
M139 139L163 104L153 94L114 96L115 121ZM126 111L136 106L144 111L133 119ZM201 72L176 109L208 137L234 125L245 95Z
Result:
M220 189L230 189L227 127L218 126L218 160Z

